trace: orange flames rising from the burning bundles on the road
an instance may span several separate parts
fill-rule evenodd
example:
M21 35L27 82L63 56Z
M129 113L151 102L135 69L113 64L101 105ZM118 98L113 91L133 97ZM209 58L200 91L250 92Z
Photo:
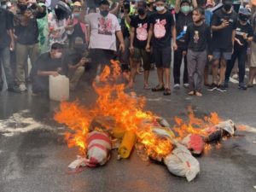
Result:
M111 61L111 66L104 68L99 78L100 82L93 84L98 95L94 108L85 108L79 102L61 102L60 110L55 113L55 120L70 129L65 134L68 147L79 147L81 153L86 154L86 140L91 122L98 117L111 117L114 119L114 126L123 131L136 133L137 141L143 143L148 155L164 157L170 154L173 148L172 139L157 135L154 128L145 123L152 122L154 114L143 109L143 96L125 93L125 84L117 83L120 74L118 61ZM198 119L192 108L189 108L188 116L188 122L175 117L174 131L177 133L177 139L182 139L189 133L203 135L203 129L220 121L217 113Z

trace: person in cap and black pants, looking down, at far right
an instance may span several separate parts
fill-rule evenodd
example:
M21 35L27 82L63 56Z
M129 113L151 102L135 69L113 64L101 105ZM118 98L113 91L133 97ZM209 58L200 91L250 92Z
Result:
M224 86L229 87L230 74L235 65L236 59L238 59L239 68L239 85L238 88L241 90L247 90L247 86L244 84L245 76L245 65L247 59L247 47L248 43L253 40L253 27L247 23L251 13L241 8L239 10L239 21L236 26L236 38L234 44L234 53L232 54L231 60L227 63L227 70L225 73Z

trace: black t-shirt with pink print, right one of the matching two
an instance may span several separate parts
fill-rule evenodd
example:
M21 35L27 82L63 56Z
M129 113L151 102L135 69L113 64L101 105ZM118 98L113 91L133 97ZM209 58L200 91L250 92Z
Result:
M153 47L170 47L172 40L172 26L175 26L171 12L166 11L165 14L156 12L149 17L149 23L154 26Z

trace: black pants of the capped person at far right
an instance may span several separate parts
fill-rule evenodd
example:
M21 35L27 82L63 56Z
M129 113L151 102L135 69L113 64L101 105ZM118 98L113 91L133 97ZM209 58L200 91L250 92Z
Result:
M225 73L225 81L229 82L230 74L235 65L236 59L238 59L238 69L239 69L239 84L242 84L245 76L245 63L247 59L247 47L237 48L235 46L234 53L231 56L231 60L227 62L227 69Z

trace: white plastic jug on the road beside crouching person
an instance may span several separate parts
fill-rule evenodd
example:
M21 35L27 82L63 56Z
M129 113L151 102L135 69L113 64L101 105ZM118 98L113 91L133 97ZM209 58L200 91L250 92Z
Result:
M65 75L49 76L49 99L57 102L69 99L69 79Z

